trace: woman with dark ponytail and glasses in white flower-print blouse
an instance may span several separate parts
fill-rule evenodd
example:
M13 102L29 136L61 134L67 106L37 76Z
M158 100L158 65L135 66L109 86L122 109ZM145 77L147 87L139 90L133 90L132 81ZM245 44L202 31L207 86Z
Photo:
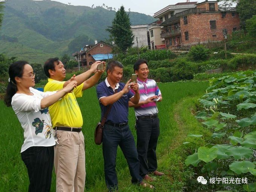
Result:
M26 61L9 67L5 104L12 106L24 129L21 158L29 175L29 192L49 192L52 180L55 138L48 107L76 87L76 81L58 92L41 92L35 86L35 73Z

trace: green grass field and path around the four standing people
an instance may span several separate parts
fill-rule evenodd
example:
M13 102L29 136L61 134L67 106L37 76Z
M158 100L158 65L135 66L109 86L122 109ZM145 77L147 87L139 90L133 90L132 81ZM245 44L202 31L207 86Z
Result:
M194 101L206 90L207 82L174 82L159 84L163 101L158 103L160 118L160 137L157 156L158 169L165 176L158 177L154 182L154 191L181 191L186 187L187 168L184 159L187 155L186 146L182 145L186 134L194 129L200 131L201 126L192 116L190 108ZM193 98L187 100L184 98ZM183 101L184 100L184 101ZM187 101L187 102L185 102ZM93 133L96 123L100 120L100 108L96 98L95 88L84 91L83 97L78 98L83 115L83 133L86 148L86 191L107 191L104 181L102 147L94 144ZM191 107L190 107L191 106ZM0 191L27 191L27 170L20 157L23 143L23 130L12 108L4 106L0 101L0 120L2 136L0 139ZM194 121L193 121L194 120ZM130 129L136 139L134 129L134 110L129 111ZM193 132L197 134L197 131ZM116 171L119 180L119 191L148 191L131 184L130 174L125 158L120 149L117 152ZM51 191L55 191L55 174L53 174Z

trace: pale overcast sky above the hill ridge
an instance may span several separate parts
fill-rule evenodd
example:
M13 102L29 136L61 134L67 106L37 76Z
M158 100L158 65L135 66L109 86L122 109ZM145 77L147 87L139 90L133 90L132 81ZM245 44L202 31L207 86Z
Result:
M108 7L120 8L120 6L124 6L125 10L128 11L130 8L133 12L144 13L146 15L154 15L155 12L165 8L168 5L174 5L179 2L186 2L186 0L55 0L56 2L61 3L71 3L71 5L83 5L91 7L94 6L102 6L104 3ZM190 0L190 2L196 2L197 0ZM203 2L204 0L198 0L197 2Z

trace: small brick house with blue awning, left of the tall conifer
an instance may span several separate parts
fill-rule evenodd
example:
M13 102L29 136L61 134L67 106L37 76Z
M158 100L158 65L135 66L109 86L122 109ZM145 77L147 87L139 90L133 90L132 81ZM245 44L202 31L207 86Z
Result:
M95 61L106 61L107 59L112 59L113 46L100 41L99 43L95 41L95 45L87 45L83 47L80 52L73 53L76 61L81 62L81 66L89 67Z

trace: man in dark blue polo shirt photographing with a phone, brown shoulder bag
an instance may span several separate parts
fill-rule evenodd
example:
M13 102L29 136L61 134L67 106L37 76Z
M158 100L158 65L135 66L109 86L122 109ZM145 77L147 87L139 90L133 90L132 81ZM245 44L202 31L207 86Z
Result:
M129 166L131 182L153 188L144 183L139 175L139 159L133 135L128 126L128 101L137 104L140 99L138 85L120 83L123 76L123 65L119 61L111 61L107 65L107 78L97 87L97 97L101 107L101 120L107 106L112 104L103 129L102 149L104 157L105 182L109 191L118 190L116 175L116 154L119 145ZM130 89L134 90L133 94Z

